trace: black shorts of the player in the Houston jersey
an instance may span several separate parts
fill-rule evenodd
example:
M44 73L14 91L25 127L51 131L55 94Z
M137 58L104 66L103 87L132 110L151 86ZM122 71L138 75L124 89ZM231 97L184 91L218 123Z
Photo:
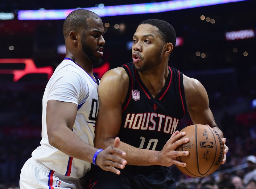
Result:
M92 165L83 178L85 189L175 189L171 171L164 166L126 165L116 175Z

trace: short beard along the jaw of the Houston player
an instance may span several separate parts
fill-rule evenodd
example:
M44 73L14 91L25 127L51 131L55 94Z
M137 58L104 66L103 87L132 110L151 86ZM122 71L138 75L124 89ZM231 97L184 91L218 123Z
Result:
M135 66L135 69L138 72L143 72L143 71L146 71L148 69L152 69L152 68L154 68L155 66L158 66L161 63L161 59L162 59L162 49L160 48L159 51L157 51L156 53L154 53L150 57L147 57L146 60L144 59L145 62L140 67Z

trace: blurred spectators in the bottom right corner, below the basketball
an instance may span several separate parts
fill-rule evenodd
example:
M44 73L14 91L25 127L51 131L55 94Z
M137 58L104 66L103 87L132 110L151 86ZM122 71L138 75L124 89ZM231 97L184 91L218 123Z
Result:
M227 161L229 166L232 159L229 157ZM222 165L206 177L194 178L180 174L176 181L177 189L256 189L256 156L249 155L242 159L245 163L230 168Z

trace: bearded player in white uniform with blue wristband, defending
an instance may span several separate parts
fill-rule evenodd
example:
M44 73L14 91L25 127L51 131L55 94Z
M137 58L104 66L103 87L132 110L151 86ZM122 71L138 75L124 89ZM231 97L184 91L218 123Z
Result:
M57 66L43 94L42 140L24 164L20 188L82 188L80 178L91 163L120 174L125 152L120 140L105 150L93 147L98 113L99 79L93 64L101 62L104 28L101 18L75 10L64 21L66 58ZM121 156L121 157L119 157Z

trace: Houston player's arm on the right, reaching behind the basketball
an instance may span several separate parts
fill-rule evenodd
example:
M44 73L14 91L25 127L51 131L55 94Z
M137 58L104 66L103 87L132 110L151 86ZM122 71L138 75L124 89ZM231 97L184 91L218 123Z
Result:
M225 156L222 161L222 163L225 163L229 148L226 146L226 138L223 138L223 132L217 126L213 113L209 108L209 98L204 86L198 80L185 75L183 75L183 83L188 112L193 124L208 124L218 132L225 147Z

